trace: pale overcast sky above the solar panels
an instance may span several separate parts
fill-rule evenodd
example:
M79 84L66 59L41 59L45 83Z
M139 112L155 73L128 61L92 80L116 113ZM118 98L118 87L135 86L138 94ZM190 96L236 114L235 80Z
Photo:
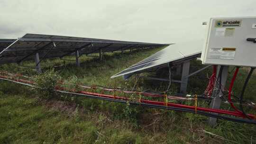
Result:
M256 16L255 0L0 0L0 38L26 33L154 43L203 39L210 17Z

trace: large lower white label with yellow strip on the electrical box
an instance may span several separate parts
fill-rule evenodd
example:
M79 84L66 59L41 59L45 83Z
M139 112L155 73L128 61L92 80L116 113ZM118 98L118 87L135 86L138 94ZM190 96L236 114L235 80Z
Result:
M233 60L235 58L236 48L223 47L223 48L210 48L208 58L209 59L228 59Z

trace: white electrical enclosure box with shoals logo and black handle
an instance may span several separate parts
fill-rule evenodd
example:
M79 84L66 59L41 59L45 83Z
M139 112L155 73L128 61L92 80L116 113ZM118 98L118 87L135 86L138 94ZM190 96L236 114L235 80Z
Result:
M203 64L256 67L256 17L210 18Z

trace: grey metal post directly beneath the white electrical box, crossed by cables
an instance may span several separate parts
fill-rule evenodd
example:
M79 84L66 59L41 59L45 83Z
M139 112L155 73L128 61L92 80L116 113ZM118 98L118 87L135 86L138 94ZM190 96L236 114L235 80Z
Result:
M219 74L219 68L220 68L220 66L218 67L217 75ZM229 72L229 66L223 66L223 71L222 71L222 75L221 75L222 90L225 88L226 81L228 78L228 72ZM220 90L219 94L211 100L210 108L218 108L219 109L220 104L221 104L220 97L223 96L222 90ZM217 118L209 117L208 122L209 122L210 126L215 126L216 122L217 122Z

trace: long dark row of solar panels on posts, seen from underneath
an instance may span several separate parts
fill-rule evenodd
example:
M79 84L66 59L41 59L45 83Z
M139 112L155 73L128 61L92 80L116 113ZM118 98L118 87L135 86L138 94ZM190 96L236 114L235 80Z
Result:
M39 54L39 57L44 58L62 58L66 55L72 55L77 50L79 50L79 54L94 54L99 53L100 49L104 53L121 49L154 48L166 44L26 34L16 41L9 40L9 43L0 41L0 45L0 64L3 64L34 60L36 53Z

